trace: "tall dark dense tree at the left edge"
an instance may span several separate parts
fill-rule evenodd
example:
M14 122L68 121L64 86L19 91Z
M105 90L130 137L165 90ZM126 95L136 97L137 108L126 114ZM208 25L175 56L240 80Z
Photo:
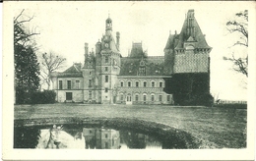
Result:
M24 10L14 18L14 65L15 65L15 97L16 103L31 103L32 93L39 86L39 63L35 55L35 43L32 36L36 32L27 31L22 19ZM20 20L22 19L22 20Z

